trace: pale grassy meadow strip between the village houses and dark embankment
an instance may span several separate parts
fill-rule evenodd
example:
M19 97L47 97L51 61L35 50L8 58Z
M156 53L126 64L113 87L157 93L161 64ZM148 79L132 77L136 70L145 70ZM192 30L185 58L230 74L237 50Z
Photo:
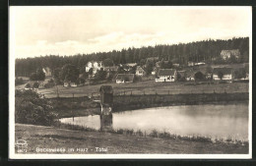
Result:
M156 83L155 80L148 80L137 83L103 83L111 85L114 89L114 94L179 94L179 93L217 93L224 92L248 92L249 83L204 83L194 84L195 82L177 82L177 83ZM188 85L191 84L191 85ZM97 95L98 89L102 84L84 85L79 87L63 87L58 85L60 97L75 97ZM45 97L52 98L57 96L57 87L38 89L38 92L43 93Z

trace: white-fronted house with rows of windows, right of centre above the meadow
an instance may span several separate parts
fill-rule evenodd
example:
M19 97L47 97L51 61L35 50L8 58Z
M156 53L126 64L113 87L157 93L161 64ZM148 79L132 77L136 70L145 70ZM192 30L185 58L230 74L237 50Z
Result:
M175 82L177 79L177 72L175 69L160 69L156 82Z

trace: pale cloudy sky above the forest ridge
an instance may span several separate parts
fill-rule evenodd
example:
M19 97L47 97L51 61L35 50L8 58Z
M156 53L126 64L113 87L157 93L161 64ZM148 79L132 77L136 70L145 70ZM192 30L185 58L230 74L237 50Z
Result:
M251 36L250 7L10 7L15 58Z

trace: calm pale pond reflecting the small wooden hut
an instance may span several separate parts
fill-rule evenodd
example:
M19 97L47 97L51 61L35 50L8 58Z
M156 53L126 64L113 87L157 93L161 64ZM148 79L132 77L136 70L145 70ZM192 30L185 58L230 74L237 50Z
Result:
M165 131L180 136L248 140L248 104L183 105L112 113L110 116L62 118L61 123L94 128Z

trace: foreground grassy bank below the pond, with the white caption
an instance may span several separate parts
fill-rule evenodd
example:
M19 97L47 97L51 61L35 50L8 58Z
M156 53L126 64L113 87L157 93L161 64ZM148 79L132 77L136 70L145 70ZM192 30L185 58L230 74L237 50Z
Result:
M162 153L162 154L245 154L248 145L223 142L193 141L140 137L136 135L118 135L113 133L82 132L52 127L16 125L17 139L25 139L28 153L36 153L36 147L53 148L89 148L89 152L74 151L66 153ZM98 152L96 147L107 147L107 151Z

